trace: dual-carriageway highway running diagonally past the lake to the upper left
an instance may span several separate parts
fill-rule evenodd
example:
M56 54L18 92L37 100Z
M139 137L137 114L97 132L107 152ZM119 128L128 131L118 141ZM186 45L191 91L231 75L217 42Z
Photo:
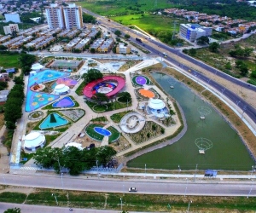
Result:
M109 22L107 18L102 17L98 14L94 14L94 13L90 12L89 10L86 10L86 9L83 9L83 10L84 10L84 12L86 12L88 14L96 16L100 20L101 23L103 23L106 26L111 26L113 30L114 30L114 26L115 27L122 26L121 24L116 23L113 20L111 20L111 22ZM124 30L132 32L132 30L130 28L125 27L125 26L124 26ZM184 55L178 49L173 49L173 48L167 46L165 43L161 43L160 41L158 41L156 39L149 39L149 38L147 39L146 43L140 43L135 40L135 37L141 37L141 38L143 38L143 40L145 40L144 39L145 36L137 35L136 32L132 32L129 34L131 36L130 40L132 42L143 46L143 48L148 49L154 55L163 55L163 53L160 52L159 49L154 48L154 45L157 45L160 49L165 49L167 55L170 53L175 54L183 60L187 60L190 63L195 64L196 66L200 66L202 69L206 70L207 72L212 72L221 78L229 80L232 83L236 83L237 85L240 85L241 87L256 91L255 86L250 85L246 82L242 82L239 79L233 78L230 75L225 74L224 72L218 71L218 69L215 69L212 66L208 66L207 64L201 62L200 60L195 60L194 58L191 58L189 55ZM152 45L152 44L154 44L154 45ZM194 74L195 79L196 78L200 79L205 84L208 84L208 85L212 86L212 88L216 89L220 95L224 95L225 97L227 97L230 101L232 101L237 107L239 107L241 109L242 113L247 114L247 116L253 120L253 123L256 124L256 109L254 107L252 107L249 103L247 103L247 101L244 101L239 95L236 95L230 89L225 88L223 85L221 85L218 82L213 81L211 78L207 78L207 76L203 75L201 72L197 72L197 71L191 69L191 67L181 64L180 61L175 60L174 58L172 58L170 56L167 56L165 58L165 60L172 63L174 66L181 67L185 71L191 70L191 72Z

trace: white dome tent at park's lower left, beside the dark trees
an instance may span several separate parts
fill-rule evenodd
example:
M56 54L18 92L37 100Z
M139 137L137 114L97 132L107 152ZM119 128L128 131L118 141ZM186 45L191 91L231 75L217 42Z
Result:
M30 151L36 151L39 147L44 147L45 136L39 132L31 132L25 136L24 147Z

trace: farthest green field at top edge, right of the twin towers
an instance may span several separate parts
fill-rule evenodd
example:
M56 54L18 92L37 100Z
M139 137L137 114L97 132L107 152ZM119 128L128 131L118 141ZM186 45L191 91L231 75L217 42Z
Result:
M138 14L173 7L166 0L158 0L157 5L155 0L87 0L76 4L101 15Z

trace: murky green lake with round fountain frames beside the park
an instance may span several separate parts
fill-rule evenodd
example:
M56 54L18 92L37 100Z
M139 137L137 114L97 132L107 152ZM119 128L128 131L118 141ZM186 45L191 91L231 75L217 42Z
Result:
M239 135L224 118L218 114L209 104L202 101L183 83L177 82L174 89L170 89L169 76L160 73L153 74L160 86L172 95L183 108L188 130L176 143L143 154L128 162L130 167L177 170L195 170L198 164L199 170L252 170L253 158L241 141ZM199 107L207 107L212 111L201 120ZM195 140L206 138L200 146L210 146L205 154L199 153L199 147Z

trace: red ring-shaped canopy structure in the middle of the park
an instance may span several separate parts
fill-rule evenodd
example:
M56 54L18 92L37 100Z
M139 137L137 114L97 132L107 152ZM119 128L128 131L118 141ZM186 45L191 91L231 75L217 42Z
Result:
M84 96L86 96L87 98L91 98L96 93L95 91L96 85L99 83L104 83L106 81L113 81L118 83L117 86L112 91L106 94L108 98L113 95L116 95L125 86L124 78L121 78L119 76L105 76L103 78L99 78L99 79L96 79L95 81L88 83L83 90Z

